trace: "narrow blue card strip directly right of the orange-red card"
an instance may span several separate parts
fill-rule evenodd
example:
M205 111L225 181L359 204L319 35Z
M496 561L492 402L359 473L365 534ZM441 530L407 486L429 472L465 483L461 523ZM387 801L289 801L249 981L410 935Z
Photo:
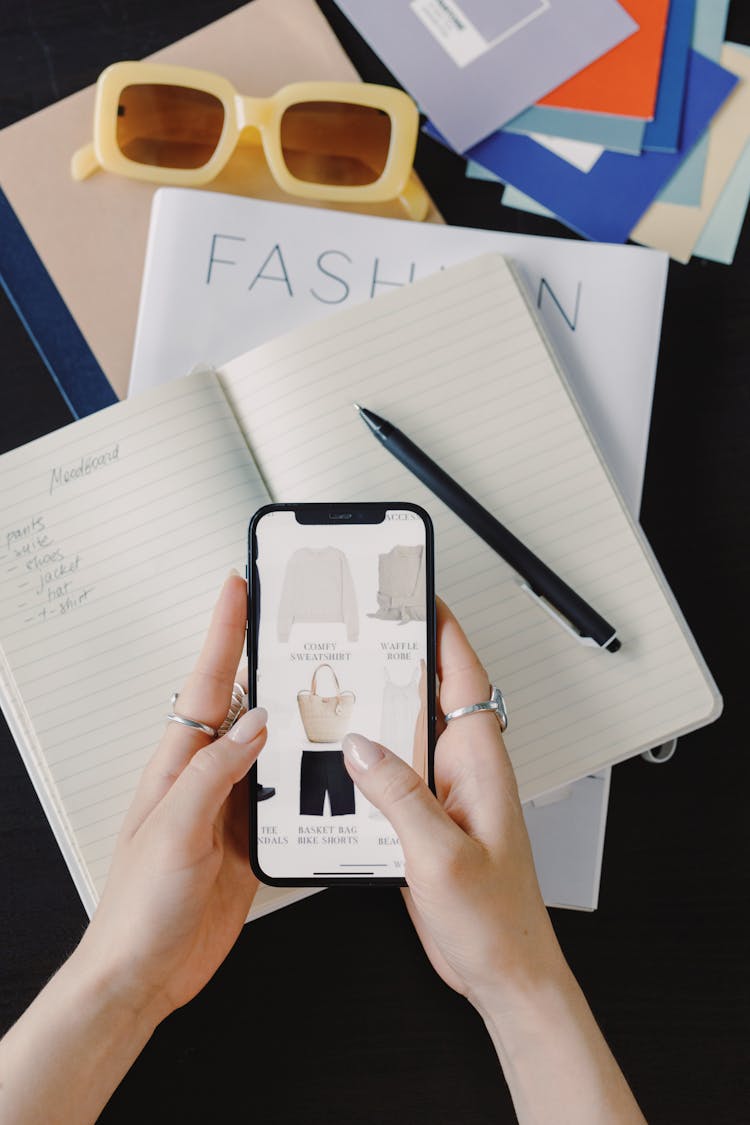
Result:
M669 4L657 106L653 120L648 123L643 134L643 147L648 152L677 152L679 148L695 3L696 0L671 0Z

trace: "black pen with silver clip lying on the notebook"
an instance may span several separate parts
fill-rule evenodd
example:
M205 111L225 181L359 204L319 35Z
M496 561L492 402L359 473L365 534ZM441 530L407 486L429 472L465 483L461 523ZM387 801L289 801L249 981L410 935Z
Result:
M524 590L542 609L551 613L580 644L596 645L609 652L617 651L621 646L616 629L591 609L588 602L524 547L519 539L449 477L440 465L423 453L406 434L372 411L367 411L356 403L354 406L378 441L521 575Z

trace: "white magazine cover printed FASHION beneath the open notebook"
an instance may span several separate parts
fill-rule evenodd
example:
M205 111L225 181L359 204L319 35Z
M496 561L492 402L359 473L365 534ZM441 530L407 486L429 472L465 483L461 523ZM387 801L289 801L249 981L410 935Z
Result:
M638 511L669 263L661 251L161 188L128 393L488 252L513 260Z

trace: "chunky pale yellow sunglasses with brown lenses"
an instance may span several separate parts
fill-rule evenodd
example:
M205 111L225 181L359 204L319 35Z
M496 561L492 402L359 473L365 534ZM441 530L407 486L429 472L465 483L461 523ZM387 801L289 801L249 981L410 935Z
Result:
M419 127L403 90L368 82L295 82L246 98L209 71L123 62L99 75L93 142L71 174L99 168L136 180L200 187L229 161L243 135L263 147L278 186L331 202L400 199L423 219L430 199L413 174ZM245 130L255 133L245 133Z

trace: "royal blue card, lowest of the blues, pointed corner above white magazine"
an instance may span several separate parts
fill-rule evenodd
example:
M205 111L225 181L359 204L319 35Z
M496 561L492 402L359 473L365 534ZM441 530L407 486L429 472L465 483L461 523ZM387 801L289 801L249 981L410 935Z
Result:
M530 137L500 132L473 145L467 156L549 207L587 238L626 242L737 81L735 74L690 51L683 137L677 153L626 156L605 152L590 172L579 172ZM425 129L443 141L434 126L427 124Z

